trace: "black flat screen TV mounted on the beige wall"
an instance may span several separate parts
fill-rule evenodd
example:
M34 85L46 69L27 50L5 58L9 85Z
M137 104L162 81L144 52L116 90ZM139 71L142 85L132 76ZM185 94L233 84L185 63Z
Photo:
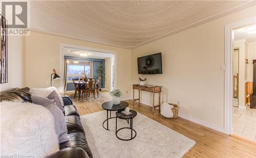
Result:
M138 58L139 74L158 74L162 73L162 54L161 52L154 55Z

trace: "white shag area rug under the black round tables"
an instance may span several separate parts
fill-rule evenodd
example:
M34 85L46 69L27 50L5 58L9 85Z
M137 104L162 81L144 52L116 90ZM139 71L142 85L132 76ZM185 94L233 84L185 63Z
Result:
M138 113L138 112L137 112ZM115 112L112 112L112 117ZM102 127L106 111L81 116L86 138L93 156L97 157L182 157L196 142L140 113L133 119L137 136L130 141L116 138L116 119L109 120L109 129ZM106 122L105 122L106 127ZM117 119L117 129L130 127ZM130 129L118 131L118 137L131 138Z

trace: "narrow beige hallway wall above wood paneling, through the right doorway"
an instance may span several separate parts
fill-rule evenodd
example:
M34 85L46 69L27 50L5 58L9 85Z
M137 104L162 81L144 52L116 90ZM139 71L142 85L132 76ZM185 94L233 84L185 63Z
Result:
M253 63L252 60L256 60L256 42L254 43L248 43L248 62L249 64L247 65L247 81L252 81L253 80Z

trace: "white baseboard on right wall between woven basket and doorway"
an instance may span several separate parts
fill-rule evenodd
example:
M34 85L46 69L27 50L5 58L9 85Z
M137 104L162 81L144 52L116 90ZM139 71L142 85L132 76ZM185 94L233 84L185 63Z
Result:
M210 124L210 123L207 123L207 122L204 122L204 121L201 121L199 119L192 118L192 117L189 117L189 116L186 116L186 115L183 115L183 114L178 114L178 116L181 117L181 118L184 118L186 120L201 124L201 125L206 126L208 128L220 131L221 133L225 133L223 127L219 127L219 126L216 126L214 124Z

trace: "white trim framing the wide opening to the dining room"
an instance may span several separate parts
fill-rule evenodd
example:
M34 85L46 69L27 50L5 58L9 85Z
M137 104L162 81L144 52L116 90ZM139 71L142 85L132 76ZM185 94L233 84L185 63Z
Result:
M67 44L67 43L60 43L60 77L64 77L64 47L69 47L69 48L76 48L76 49L82 49L82 50L91 50L91 51L99 51L99 52L104 52L108 54L114 54L114 70L112 72L114 73L114 77L111 77L111 85L113 83L112 80L114 80L114 88L117 88L117 52L112 51L112 50L104 50L104 49L98 49L98 48L93 48L93 47L86 47L86 46L80 46L80 45L73 45L73 44ZM112 58L111 58L112 59ZM64 82L63 79L60 81L60 87L58 88L58 91L63 92L64 91Z

